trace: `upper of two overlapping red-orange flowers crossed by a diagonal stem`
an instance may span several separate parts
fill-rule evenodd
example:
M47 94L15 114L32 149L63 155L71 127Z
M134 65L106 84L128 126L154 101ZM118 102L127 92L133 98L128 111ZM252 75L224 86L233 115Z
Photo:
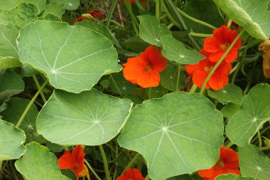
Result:
M217 62L225 51L227 51L227 48L232 44L238 33L227 28L227 26L221 26L214 30L213 34L214 37L205 38L203 50L210 53L209 59L212 62ZM225 57L227 63L231 63L237 58L238 49L241 47L241 44L241 39L239 38Z

